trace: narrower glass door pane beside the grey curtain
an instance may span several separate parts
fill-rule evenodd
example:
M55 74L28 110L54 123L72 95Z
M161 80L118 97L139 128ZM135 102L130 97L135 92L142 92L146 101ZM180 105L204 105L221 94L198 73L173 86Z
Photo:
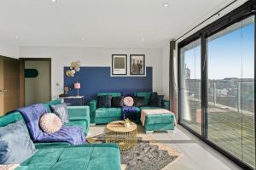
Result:
M180 50L181 122L201 133L201 40Z

